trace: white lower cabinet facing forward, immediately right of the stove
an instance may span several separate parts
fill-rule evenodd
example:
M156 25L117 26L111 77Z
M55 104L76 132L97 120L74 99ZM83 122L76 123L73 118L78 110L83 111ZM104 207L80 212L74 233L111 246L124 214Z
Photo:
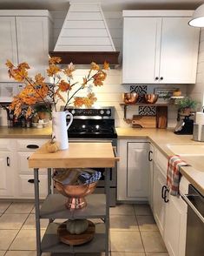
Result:
M122 156L117 168L117 199L148 201L149 146L145 140L118 140L118 154Z

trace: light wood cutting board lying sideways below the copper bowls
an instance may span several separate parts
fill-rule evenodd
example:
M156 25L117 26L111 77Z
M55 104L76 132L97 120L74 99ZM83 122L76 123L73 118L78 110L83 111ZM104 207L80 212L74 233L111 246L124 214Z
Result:
M156 127L156 117L155 116L133 116L132 120L133 128L155 128Z

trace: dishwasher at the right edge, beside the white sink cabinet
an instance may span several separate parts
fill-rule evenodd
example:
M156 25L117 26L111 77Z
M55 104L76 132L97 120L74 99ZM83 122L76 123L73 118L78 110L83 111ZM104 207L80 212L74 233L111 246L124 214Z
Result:
M188 204L186 256L204 255L204 197L193 185L188 195L182 195Z

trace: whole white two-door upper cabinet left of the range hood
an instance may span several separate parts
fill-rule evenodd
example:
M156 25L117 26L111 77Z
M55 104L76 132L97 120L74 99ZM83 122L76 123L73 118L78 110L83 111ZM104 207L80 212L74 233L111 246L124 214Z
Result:
M48 10L0 10L0 82L14 82L5 62L30 64L29 75L45 76L48 66L51 18Z

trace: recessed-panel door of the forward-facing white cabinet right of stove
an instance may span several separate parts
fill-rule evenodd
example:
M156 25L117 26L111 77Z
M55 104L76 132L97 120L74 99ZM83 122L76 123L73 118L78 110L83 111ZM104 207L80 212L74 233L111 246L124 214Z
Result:
M130 198L148 199L149 144L128 143L128 184Z

